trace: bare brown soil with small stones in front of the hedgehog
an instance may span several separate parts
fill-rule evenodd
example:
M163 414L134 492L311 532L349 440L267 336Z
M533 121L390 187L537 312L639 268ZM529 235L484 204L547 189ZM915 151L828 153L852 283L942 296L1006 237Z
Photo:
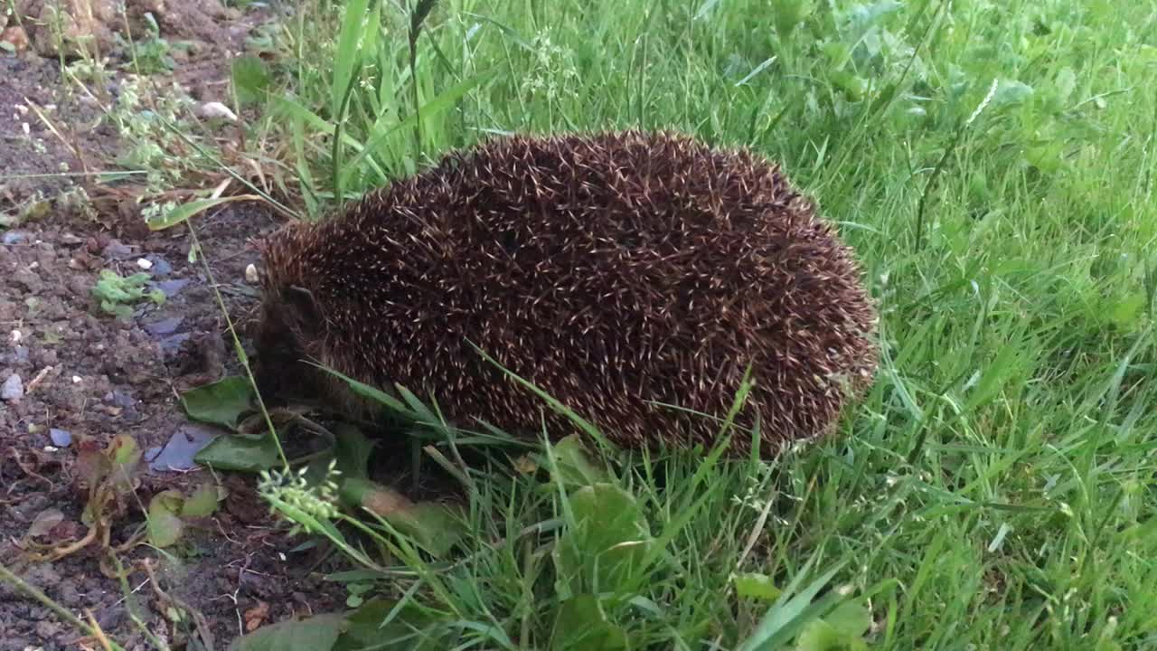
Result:
M219 79L222 74L221 66L204 60L191 61L190 68L205 83L211 83L206 71ZM29 100L54 105L53 123L65 141L20 108L27 109ZM37 196L58 197L78 183L76 177L17 175L80 171L86 164L98 169L98 161L115 153L118 142L111 130L94 126L97 118L94 107L60 83L56 61L0 56L0 212L15 213ZM86 161L78 160L76 152ZM20 561L17 548L36 515L50 506L65 515L54 532L84 531L82 502L72 488L76 445L53 445L52 430L69 432L74 441L88 436L103 444L127 433L145 448L161 446L189 425L179 390L236 372L214 293L200 263L187 261L187 229L150 233L134 211L100 205L103 210L94 215L56 202L35 221L0 228L0 383L15 374L27 392L19 400L0 401L0 559L73 613L91 610L125 649L149 649L128 616L120 585L100 571L96 546L53 563ZM256 207L227 209L197 220L206 259L235 319L256 300L244 280L245 266L257 257L248 240L275 225ZM90 297L100 271L132 273L140 270L141 258L153 263L154 281L171 293L169 299L160 306L139 303L127 322L103 314ZM205 470L153 470L138 496L147 504L161 490L206 476ZM147 547L123 561L157 559L162 571L156 587L206 617L216 649L237 637L246 613L267 608L260 617L267 623L340 607L340 586L322 580L327 566L315 568L316 550L293 551L301 539L289 537L270 518L253 493L252 477L231 475L224 484L229 497L208 526L191 532L186 544L172 551L176 561ZM113 536L127 535L141 520L140 509L130 509ZM193 639L187 617L179 623L167 619L167 604L145 573L133 573L128 584L135 614L153 634L174 648L182 648L183 638ZM0 651L78 649L80 636L0 581Z

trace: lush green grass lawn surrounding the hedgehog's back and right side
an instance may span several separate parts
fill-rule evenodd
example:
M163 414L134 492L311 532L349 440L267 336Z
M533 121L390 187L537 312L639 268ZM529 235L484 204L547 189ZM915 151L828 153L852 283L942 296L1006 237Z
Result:
M631 649L824 649L815 623L754 643L843 595L872 649L1157 646L1157 3L456 0L413 61L396 3L336 5L278 35L255 126L309 217L493 132L677 129L781 160L882 308L832 440L612 459L656 550L617 590L555 583L575 496L501 455L469 470L465 559L398 548L375 590L463 649L600 617Z

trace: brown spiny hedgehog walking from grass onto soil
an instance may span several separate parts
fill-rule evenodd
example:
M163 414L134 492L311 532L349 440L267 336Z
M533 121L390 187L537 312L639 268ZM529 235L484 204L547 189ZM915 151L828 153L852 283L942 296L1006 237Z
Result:
M493 138L258 247L258 389L361 415L318 365L458 425L575 431L513 374L619 446L709 448L746 378L728 449L773 455L832 431L877 365L876 306L816 203L679 133Z

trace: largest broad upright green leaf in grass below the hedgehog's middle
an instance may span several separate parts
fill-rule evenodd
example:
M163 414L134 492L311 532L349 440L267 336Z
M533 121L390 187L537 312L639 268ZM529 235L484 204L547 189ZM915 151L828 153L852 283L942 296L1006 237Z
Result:
M576 490L569 500L575 524L552 553L560 595L635 590L655 543L635 497L599 483Z

